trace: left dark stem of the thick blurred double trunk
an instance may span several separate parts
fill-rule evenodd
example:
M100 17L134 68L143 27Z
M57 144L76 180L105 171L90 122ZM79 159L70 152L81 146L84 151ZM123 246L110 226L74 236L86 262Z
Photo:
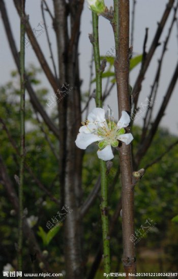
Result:
M57 55L58 55L58 72L60 73L60 84L64 84L67 80L67 57L66 49L68 46L68 22L66 5L61 0L54 0L54 31L56 34L57 42ZM71 84L70 84L71 85ZM65 180L65 161L66 161L66 110L67 110L67 97L61 102L58 102L58 123L59 123L59 140L60 140L60 184L62 204L64 204L64 180Z

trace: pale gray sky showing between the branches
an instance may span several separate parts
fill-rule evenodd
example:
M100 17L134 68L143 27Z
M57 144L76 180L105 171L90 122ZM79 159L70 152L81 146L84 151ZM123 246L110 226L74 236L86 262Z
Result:
M52 7L52 1L48 0L48 5L51 8L51 11L53 11ZM16 40L17 48L19 50L19 17L17 15L17 12L14 8L14 4L12 0L6 0L6 7L8 10L9 18L11 19L11 27L13 30L13 34ZM41 15L41 9L40 9L40 0L26 0L26 13L29 14L29 20L31 22L32 28L35 28L36 30L41 29L41 27L38 27L38 24L43 21L42 15ZM167 1L166 0L137 0L136 4L136 17L135 17L135 33L134 33L134 45L133 45L133 51L137 54L142 53L142 45L144 40L144 34L145 34L145 27L149 27L149 38L147 41L147 50L150 47L150 44L153 40L153 36L155 34L155 30L157 28L157 22L160 21L161 16L163 14L163 11L165 9ZM109 7L112 5L111 0L105 0L105 4ZM131 9L132 12L132 0L130 0ZM169 19L166 24L165 31L163 32L160 42L162 43L165 40L165 37L168 32L169 23L172 19L173 13L170 14ZM48 15L46 15L47 19L47 25L48 25L48 32L50 36L50 40L52 43L52 49L53 54L56 60L56 41L54 36L54 31L52 28L52 24L50 21L50 18ZM2 21L2 19L1 19ZM100 53L101 55L105 55L107 51L111 52L111 48L114 46L114 38L112 33L112 28L106 19L100 17L99 21L99 32L100 32ZM39 34L40 32L37 32ZM83 80L82 83L82 90L83 92L88 89L88 81L89 81L89 75L90 75L90 59L91 59L91 51L92 46L90 41L88 40L88 34L92 33L92 25L91 25L91 11L87 8L87 5L85 3L84 11L82 13L82 20L81 20L81 36L80 36L80 43L79 43L79 52L80 52L80 73L81 73L81 79ZM0 25L0 35L1 35L1 52L0 52L0 61L1 61L1 85L6 83L11 79L10 72L11 70L16 69L12 54L7 42L5 30L3 23ZM174 25L174 28L172 30L171 39L168 44L168 51L166 52L162 73L161 73L161 80L159 84L159 92L157 101L155 104L155 112L157 112L159 105L161 104L163 100L163 96L165 94L165 91L168 87L168 82L170 80L170 77L172 76L172 73L174 71L175 65L177 63L178 59L178 43L177 43L177 27L176 24ZM49 49L46 42L46 35L45 33L41 34L41 36L38 37L38 43L40 44L44 55L52 69L51 60L49 58ZM153 83L154 75L157 69L157 61L160 57L162 51L162 46L158 47L156 50L156 53L154 55L154 59L149 67L149 70L146 72L145 80L143 82L142 91L140 94L140 99L138 102L138 105L145 102L145 98L150 93L150 86ZM31 46L26 48L26 67L29 65L29 63L33 63L37 67L39 67L39 63L36 59L36 56L34 54L34 51ZM57 64L57 63L56 63ZM136 79L136 76L139 71L139 66L137 66L130 75L130 84L134 85L134 81ZM44 75L42 75L42 85L49 88L49 95L52 94L52 89L50 85L48 84L46 78ZM161 122L161 126L167 127L169 131L173 134L178 134L177 126L178 126L178 120L175 115L177 115L177 103L178 103L178 96L177 96L177 90L178 90L178 84L176 84L174 88L174 92L172 95L172 98L169 102L169 105L167 107L165 116L163 117L163 120ZM94 107L94 101L91 103L90 109ZM116 88L114 87L111 96L106 100L105 106L109 104L109 106L113 109L114 117L117 118L117 101L116 101ZM138 119L136 122L137 124L142 124L141 118Z

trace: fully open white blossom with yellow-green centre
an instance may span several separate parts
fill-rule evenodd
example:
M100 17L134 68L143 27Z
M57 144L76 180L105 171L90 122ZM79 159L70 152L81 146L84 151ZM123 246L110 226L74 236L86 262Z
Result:
M77 147L86 149L93 142L98 142L98 158L104 161L113 159L112 147L117 147L119 141L129 144L133 140L131 133L126 134L124 128L129 126L130 116L122 111L122 116L117 124L112 120L111 109L108 108L105 117L105 110L94 108L88 115L87 120L82 122L79 134L75 141Z

